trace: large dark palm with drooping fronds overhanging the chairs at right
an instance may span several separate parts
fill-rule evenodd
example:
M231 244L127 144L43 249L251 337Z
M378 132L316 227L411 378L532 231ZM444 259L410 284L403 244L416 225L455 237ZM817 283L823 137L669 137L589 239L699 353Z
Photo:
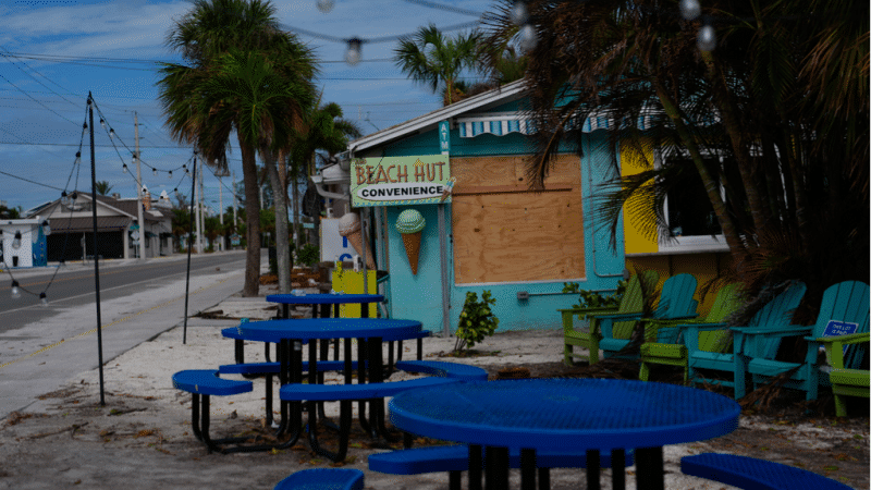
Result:
M488 17L488 42L516 37L511 3ZM579 142L577 121L604 113L621 122L608 140L615 161L617 144L664 157L613 182L618 191L600 208L612 234L624 206L651 208L651 229L664 225L665 193L694 172L748 291L802 279L813 297L837 281L868 281L871 7L702 4L720 38L712 51L698 49L701 21L680 19L677 2L529 3L538 44L526 81L541 130L530 181L541 184L561 142ZM678 154L689 158L668 158Z

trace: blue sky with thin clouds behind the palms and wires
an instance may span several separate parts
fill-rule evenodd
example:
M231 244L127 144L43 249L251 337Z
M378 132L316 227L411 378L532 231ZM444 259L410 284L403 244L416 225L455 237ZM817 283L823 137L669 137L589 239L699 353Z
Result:
M427 2L424 2L427 3ZM483 12L492 0L438 0L446 7ZM365 133L385 128L441 107L440 97L408 81L393 64L395 41L367 42L363 62L344 60L346 46L330 38L376 39L414 33L434 23L441 28L475 22L476 16L404 0L335 0L321 12L317 0L272 0L279 21L317 34L299 33L321 61L323 101L342 106L346 119ZM143 183L152 194L174 188L189 194L180 170L191 157L163 128L155 61L179 62L164 46L187 0L4 0L0 2L0 201L24 210L60 197L61 189L90 189L90 149L85 133L81 170L73 172L82 138L88 91L114 130L116 148L95 111L96 174L113 193L135 197L134 111L139 120ZM126 145L126 146L125 146ZM242 180L242 162L229 156ZM132 172L122 171L126 163ZM173 170L169 177L168 170ZM14 175L14 176L13 176ZM32 181L32 182L28 182ZM69 184L68 184L69 181ZM231 179L223 180L224 207ZM205 198L218 207L219 182L208 171Z

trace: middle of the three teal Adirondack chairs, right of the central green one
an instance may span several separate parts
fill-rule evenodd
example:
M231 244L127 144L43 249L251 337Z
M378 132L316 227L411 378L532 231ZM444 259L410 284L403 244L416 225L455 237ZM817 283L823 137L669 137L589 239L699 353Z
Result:
M752 319L750 319L749 327L758 327L760 329L776 329L789 324L793 318L793 311L798 307L801 298L805 296L807 286L799 282L793 284L788 290L778 294L774 299L763 306ZM711 348L712 338L704 338L703 332L725 332L720 333L720 341L727 339L723 335L732 335L731 329L725 323L719 324L689 324L684 330L684 345L687 347L687 370L690 383L699 383L704 380L702 372L699 369L712 369L716 371L724 371L732 375L732 381L727 380L708 380L712 384L722 384L724 387L735 388L735 399L740 399L745 393L744 377L735 377L735 346L733 345L732 352L722 351L720 348ZM772 339L773 348L776 352L780 345L780 339ZM704 348L703 348L704 347ZM739 381L739 382L736 382ZM740 394L739 394L740 393Z

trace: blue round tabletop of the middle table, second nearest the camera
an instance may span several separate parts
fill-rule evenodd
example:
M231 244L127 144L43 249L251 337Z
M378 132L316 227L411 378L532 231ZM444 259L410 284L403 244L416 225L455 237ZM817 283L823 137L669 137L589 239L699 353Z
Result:
M422 323L416 320L389 318L307 318L302 320L267 320L242 323L240 336L248 341L279 342L285 339L368 339L384 341L415 338Z

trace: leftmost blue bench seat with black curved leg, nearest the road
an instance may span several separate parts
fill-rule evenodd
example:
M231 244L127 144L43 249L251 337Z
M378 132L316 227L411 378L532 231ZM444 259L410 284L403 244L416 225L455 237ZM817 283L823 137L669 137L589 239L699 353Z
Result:
M221 453L242 451L238 448L228 449L222 446L222 444L245 442L250 438L224 438L216 440L209 437L209 396L229 396L238 393L247 393L254 390L254 385L250 381L221 379L218 378L218 371L200 369L179 371L172 375L172 385L176 390L183 390L193 395L191 424L194 429L194 436L206 444L209 453L212 451L219 451Z

